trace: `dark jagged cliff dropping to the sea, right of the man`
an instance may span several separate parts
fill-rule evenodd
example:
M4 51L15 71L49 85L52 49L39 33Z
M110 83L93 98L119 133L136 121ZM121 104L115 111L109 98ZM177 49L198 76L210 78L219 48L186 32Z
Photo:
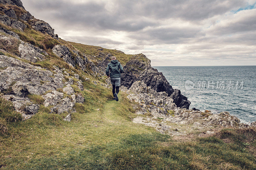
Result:
M172 88L163 73L151 67L150 60L145 55L140 54L140 58L143 60L131 59L126 63L124 73L121 74L122 85L130 88L135 81L140 80L156 92L166 92L168 96L172 95L172 99L178 107L188 109L190 101L181 95L179 90Z

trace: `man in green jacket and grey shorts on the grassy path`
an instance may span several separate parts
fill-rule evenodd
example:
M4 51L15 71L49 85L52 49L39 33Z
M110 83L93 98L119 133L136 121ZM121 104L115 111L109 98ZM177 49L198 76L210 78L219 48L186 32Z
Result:
M114 100L118 101L117 94L119 92L119 86L121 83L121 73L124 72L124 69L120 62L116 60L116 57L113 56L110 63L108 63L106 74L110 77L111 84L113 86L112 92Z

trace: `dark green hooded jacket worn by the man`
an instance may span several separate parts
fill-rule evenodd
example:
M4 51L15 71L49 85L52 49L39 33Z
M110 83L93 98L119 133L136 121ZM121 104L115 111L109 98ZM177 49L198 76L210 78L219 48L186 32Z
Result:
M108 63L106 74L107 76L109 75L110 78L120 78L122 72L124 72L124 69L117 60L111 60L111 62Z

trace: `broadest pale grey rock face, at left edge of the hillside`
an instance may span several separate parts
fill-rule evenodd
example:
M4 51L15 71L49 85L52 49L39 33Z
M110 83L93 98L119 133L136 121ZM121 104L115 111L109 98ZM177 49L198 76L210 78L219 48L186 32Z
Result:
M61 74L55 74L41 67L32 66L18 59L0 55L0 90L25 97L30 94L41 95L46 91L63 87Z

